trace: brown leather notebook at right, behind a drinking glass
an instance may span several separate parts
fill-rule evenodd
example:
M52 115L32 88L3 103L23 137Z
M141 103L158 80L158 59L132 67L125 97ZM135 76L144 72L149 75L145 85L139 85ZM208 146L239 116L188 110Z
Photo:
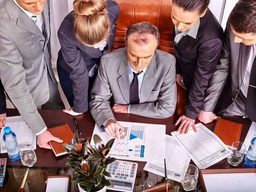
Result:
M225 145L232 146L235 141L239 141L242 124L218 118L214 131Z

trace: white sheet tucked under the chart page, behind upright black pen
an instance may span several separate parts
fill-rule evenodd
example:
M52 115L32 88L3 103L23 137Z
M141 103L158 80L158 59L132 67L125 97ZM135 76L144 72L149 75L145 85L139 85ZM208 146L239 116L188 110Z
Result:
M190 158L186 152L180 147L175 139L166 135L166 169L167 177L172 180L180 182L182 173L186 165L189 164ZM151 163L145 165L144 170L151 173L164 175L164 163Z

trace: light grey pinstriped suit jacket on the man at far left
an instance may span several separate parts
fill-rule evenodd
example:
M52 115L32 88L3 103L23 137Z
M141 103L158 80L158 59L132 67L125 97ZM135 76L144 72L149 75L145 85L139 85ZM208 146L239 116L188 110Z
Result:
M0 79L34 134L46 125L37 107L49 100L47 71L56 82L47 44L49 7L44 5L44 34L13 0L0 0Z

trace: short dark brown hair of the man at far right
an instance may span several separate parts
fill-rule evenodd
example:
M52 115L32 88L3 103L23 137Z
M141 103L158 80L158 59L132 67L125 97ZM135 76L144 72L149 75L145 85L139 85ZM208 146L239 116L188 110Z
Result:
M229 23L237 33L256 34L256 0L239 0L230 13Z

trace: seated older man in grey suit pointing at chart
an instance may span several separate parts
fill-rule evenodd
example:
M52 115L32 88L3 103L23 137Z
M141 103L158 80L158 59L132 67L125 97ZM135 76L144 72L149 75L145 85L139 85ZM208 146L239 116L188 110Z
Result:
M123 132L119 134L122 127L113 113L167 118L175 112L177 100L175 58L157 49L157 27L148 22L133 24L125 43L126 48L102 56L90 102L97 125L117 139Z

